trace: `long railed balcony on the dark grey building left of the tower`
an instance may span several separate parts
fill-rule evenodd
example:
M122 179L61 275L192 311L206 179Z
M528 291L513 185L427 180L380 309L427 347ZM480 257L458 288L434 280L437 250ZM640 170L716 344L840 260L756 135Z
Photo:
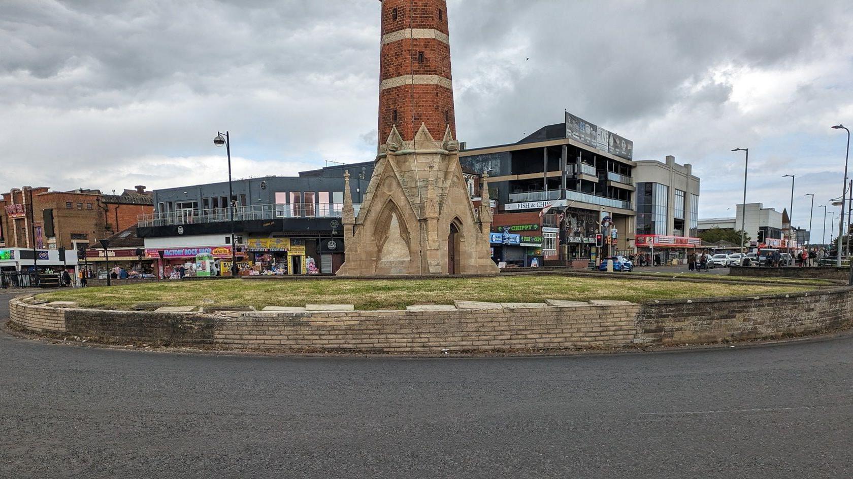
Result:
M361 205L353 206L356 209L356 215L358 215ZM339 218L342 210L343 205L320 205L316 203L238 206L234 209L234 221L287 218ZM231 216L229 215L228 208L213 208L210 210L181 210L168 213L154 213L152 215L139 215L137 226L139 228L149 228L229 221L231 221Z

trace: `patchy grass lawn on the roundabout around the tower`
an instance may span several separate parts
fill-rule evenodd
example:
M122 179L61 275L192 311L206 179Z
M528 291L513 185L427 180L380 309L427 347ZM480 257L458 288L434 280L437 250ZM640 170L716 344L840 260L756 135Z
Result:
M356 309L404 309L454 300L541 303L545 299L620 299L641 303L679 297L722 297L808 291L813 286L727 285L689 281L616 280L570 276L498 276L436 280L199 280L78 288L43 293L49 301L84 308L129 309L142 302L175 306L304 306L355 304ZM212 303L211 303L212 302Z

